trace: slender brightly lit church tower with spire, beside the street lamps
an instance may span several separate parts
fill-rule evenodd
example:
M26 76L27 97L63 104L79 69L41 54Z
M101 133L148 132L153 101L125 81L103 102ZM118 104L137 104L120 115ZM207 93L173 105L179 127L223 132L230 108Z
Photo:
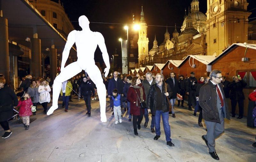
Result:
M138 54L139 54L139 66L142 64L142 60L148 55L148 32L147 24L144 17L143 6L141 6L140 13L140 30L139 30L139 40L138 40Z

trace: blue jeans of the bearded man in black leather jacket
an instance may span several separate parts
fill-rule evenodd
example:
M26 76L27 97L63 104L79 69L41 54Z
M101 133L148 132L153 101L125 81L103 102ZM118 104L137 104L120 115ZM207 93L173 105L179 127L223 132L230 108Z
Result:
M169 125L169 112L164 113L162 110L156 110L156 115L155 115L155 122L156 122L156 135L160 136L160 120L161 120L161 115L162 115L162 120L163 120L163 125L164 125L164 134L165 134L165 139L166 141L172 141L171 139L171 128Z

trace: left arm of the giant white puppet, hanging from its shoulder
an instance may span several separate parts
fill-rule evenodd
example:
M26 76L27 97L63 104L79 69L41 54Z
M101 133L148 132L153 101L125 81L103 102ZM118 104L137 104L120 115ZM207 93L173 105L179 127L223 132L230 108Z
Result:
M64 68L66 61L68 60L68 55L69 55L69 51L72 48L72 46L74 45L75 41L76 41L76 30L73 30L72 32L70 32L68 34L68 39L67 39L67 43L65 45L65 48L63 50L62 53L62 61L61 61L61 68Z

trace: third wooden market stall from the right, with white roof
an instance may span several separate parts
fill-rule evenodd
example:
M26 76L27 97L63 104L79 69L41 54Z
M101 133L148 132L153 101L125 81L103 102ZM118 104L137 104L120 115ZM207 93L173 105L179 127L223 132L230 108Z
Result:
M176 79L179 79L180 69L178 67L182 61L183 60L168 60L162 68L164 77L170 77L170 73L173 71Z

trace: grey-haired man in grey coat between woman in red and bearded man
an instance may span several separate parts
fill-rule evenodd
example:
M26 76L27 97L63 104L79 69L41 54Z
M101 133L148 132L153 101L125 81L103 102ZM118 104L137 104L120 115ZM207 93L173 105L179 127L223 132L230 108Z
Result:
M149 88L150 88L151 85L154 85L154 84L156 84L156 80L153 79L152 73L147 72L146 73L146 79L144 79L142 81L142 85L144 86L144 90L145 90L145 94L146 94L146 101L145 102L147 102L147 100L148 100ZM149 121L147 109L145 109L144 117L145 117L144 127L146 128L148 126L148 121ZM151 126L150 126L152 133L155 133L154 127L155 127L155 116L152 116Z

